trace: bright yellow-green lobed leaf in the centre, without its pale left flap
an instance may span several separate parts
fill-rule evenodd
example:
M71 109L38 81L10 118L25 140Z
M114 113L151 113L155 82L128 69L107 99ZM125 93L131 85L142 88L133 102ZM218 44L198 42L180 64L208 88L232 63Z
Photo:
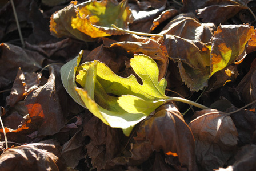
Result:
M134 55L130 65L142 79L142 85L134 75L122 78L104 63L94 60L78 67L77 82L83 89L75 88L91 113L111 127L122 128L126 136L135 124L168 99L165 96L167 82L165 79L158 82L159 71L153 59Z

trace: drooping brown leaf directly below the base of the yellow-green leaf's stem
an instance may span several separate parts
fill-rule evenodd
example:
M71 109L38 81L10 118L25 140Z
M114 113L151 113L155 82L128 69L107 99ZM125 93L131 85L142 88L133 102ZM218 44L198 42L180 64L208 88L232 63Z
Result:
M193 134L174 104L159 107L141 129L145 129L153 150L176 153L182 168L197 170Z

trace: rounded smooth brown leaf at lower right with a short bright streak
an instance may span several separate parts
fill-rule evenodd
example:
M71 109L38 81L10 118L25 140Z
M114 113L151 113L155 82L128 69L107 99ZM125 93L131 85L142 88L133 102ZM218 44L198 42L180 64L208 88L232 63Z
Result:
M223 167L234 155L238 133L229 115L215 109L196 113L190 122L195 137L195 154L203 170Z

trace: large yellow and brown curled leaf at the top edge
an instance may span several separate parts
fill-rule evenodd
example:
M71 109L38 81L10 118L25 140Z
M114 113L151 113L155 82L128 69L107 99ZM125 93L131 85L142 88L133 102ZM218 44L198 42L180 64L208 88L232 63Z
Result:
M50 31L57 37L71 36L90 41L102 36L120 35L122 32L111 28L111 24L128 28L132 22L127 0L87 1L78 5L71 4L51 16Z

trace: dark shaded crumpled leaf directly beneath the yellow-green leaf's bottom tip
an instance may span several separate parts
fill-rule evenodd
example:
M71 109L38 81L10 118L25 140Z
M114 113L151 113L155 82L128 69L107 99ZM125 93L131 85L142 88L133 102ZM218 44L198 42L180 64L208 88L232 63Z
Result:
M111 128L93 116L83 124L83 136L91 139L86 149L93 168L110 169L109 163L121 151L121 140L124 137L121 130Z

